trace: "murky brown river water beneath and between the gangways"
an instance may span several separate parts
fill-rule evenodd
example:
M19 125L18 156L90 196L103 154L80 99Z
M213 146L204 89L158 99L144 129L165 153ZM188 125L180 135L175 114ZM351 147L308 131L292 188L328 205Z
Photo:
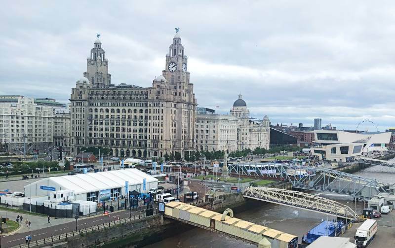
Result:
M391 159L390 161L395 161L395 159ZM395 168L372 166L356 172L355 174L363 177L375 178L381 183L389 184L395 183L394 173ZM356 213L361 213L364 207L362 201L354 203L352 199L346 195L339 196L333 193L311 193L336 200L344 205L350 206L352 209L355 208ZM301 242L303 235L322 219L332 220L334 218L327 214L315 213L265 202L262 202L259 206L247 211L240 213L235 212L235 217L297 235L299 236L299 243ZM164 239L158 243L146 246L146 248L163 247L255 248L256 246L204 229L194 228L192 230L176 234L173 237Z

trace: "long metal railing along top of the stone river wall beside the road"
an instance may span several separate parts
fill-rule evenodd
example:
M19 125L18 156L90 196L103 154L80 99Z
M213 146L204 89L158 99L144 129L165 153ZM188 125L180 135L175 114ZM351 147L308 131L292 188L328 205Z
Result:
M154 213L152 215L153 216L158 215L158 210L156 208L154 208ZM133 215L130 218L118 219L118 220L110 221L110 222L107 222L107 223L103 223L103 224L99 224L99 225L95 225L95 226L90 226L90 227L86 227L86 228L83 228L83 229L79 229L78 231L71 231L71 232L67 232L67 233L54 235L54 236L51 236L51 237L47 237L47 238L31 241L29 244L16 245L16 246L13 246L11 248L31 248L31 247L38 247L38 246L42 246L42 245L46 245L46 244L51 244L53 242L62 241L62 240L65 240L67 238L70 238L70 237L76 237L76 236L79 236L81 234L87 234L87 233L90 233L90 232L93 232L93 231L106 229L106 228L109 228L111 226L115 226L115 225L118 225L118 224L121 224L121 223L133 222L135 220L139 220L139 219L145 218L147 216L150 216L150 215L147 215L146 213L140 213L138 215Z

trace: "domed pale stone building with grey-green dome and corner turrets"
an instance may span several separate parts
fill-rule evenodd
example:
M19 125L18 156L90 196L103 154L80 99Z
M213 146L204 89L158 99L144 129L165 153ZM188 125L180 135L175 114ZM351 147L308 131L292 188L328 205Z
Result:
M262 120L251 118L247 104L238 95L231 109L231 116L240 120L237 126L237 150L254 150L256 147L269 149L270 120L267 115Z

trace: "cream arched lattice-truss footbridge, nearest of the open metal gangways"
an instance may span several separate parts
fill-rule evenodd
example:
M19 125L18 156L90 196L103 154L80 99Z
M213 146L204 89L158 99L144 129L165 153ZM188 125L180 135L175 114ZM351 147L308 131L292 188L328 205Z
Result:
M291 206L318 213L329 213L350 220L359 219L359 215L348 206L304 192L278 188L248 187L245 188L242 193L244 197L250 199Z

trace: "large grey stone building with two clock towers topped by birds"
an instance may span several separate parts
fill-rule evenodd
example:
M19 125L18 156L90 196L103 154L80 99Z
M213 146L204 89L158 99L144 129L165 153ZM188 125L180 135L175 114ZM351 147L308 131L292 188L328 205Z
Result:
M165 70L152 87L111 82L109 61L99 38L86 60L86 72L72 88L71 152L110 147L115 157L164 156L192 151L196 99L188 57L176 34Z

